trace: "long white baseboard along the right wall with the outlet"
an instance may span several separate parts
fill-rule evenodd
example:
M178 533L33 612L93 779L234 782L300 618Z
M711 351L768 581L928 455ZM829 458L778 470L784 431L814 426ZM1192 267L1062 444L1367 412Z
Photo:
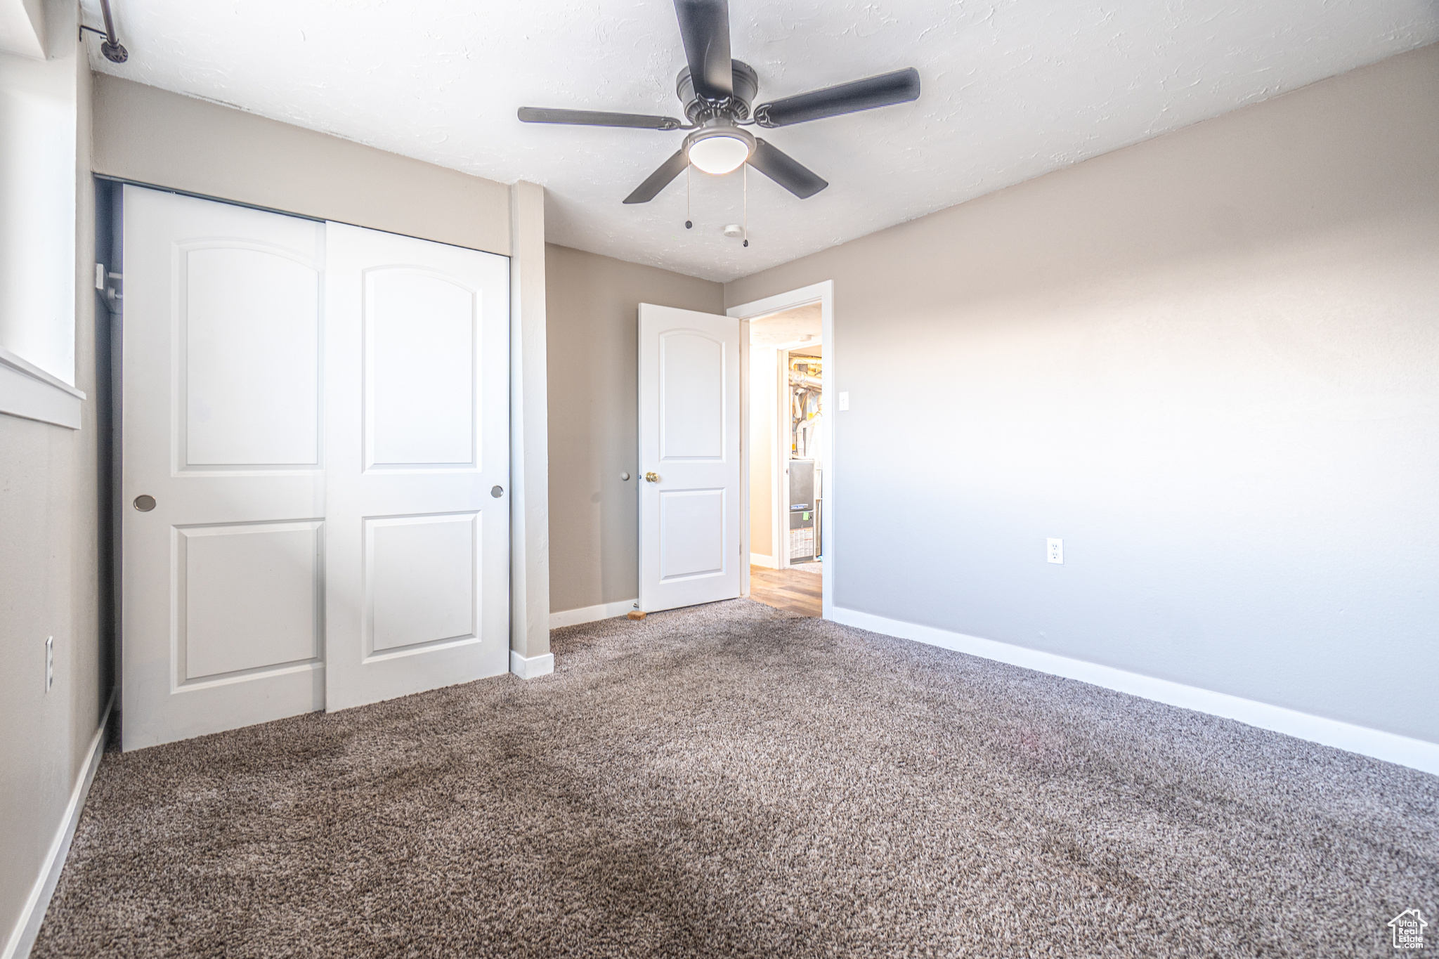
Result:
M1144 699L1168 703L1170 706L1181 706L1213 716L1223 716L1225 719L1238 719L1242 723L1281 732L1297 739L1308 739L1324 746L1347 749L1348 752L1357 752L1374 759L1383 759L1384 762L1394 762L1402 766L1439 775L1439 743L1423 739L1410 739L1409 736L1356 726L1337 719L1301 713L1284 706L1271 706L1269 703L1230 696L1229 693L1216 693L1197 686L1186 686L1164 679L1154 679L1153 676L1128 673L1112 666L1073 660L1055 653L1043 653L994 640L981 640L977 635L950 633L932 625L889 620L872 612L835 607L830 618L835 623L855 625L871 633L884 633L885 635L895 635L902 640L941 646L947 650L957 650L971 656L981 656L987 660L1009 663L1010 666L1023 666L1040 673L1076 679L1121 693L1143 696Z

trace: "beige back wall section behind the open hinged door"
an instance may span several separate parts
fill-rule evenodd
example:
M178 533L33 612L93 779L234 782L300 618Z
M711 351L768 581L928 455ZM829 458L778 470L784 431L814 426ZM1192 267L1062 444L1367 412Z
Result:
M550 608L633 600L637 311L724 312L720 283L545 246ZM629 482L620 473L630 474Z

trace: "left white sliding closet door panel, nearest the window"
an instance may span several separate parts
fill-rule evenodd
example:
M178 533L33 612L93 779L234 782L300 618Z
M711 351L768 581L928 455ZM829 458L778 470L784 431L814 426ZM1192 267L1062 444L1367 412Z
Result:
M128 185L124 210L135 749L324 707L325 231Z

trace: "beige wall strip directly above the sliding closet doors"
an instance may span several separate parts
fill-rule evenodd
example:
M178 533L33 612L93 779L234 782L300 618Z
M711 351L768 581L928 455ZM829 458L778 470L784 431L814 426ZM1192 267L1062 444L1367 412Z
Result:
M509 254L501 183L104 75L95 173Z

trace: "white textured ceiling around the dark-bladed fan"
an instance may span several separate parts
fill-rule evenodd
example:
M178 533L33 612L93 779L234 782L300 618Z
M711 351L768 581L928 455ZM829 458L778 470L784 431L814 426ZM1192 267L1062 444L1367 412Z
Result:
M99 23L98 0L83 0ZM915 66L920 101L770 131L829 180L750 173L620 200L684 134L517 106L678 115L669 0L114 0L98 70L548 190L548 239L728 280L1439 39L1436 0L731 0L760 101Z

